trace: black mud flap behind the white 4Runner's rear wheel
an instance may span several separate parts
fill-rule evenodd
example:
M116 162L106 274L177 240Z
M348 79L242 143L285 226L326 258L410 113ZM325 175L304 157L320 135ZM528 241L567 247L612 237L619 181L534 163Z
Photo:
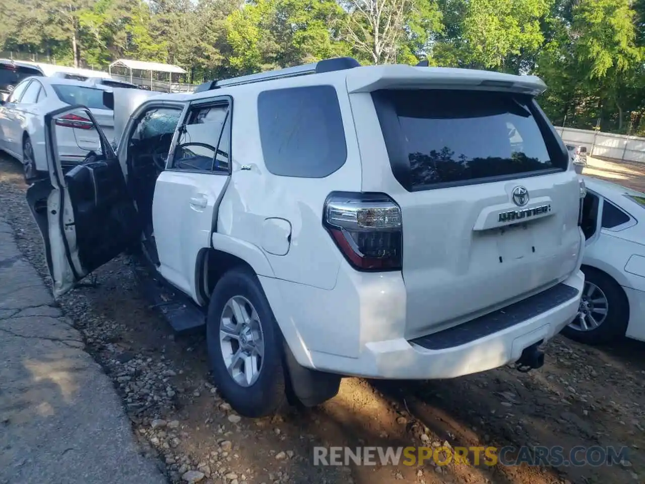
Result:
M315 407L333 398L341 386L341 375L319 372L303 367L283 340L284 368L287 381L287 398L292 405ZM293 401L295 399L296 401Z

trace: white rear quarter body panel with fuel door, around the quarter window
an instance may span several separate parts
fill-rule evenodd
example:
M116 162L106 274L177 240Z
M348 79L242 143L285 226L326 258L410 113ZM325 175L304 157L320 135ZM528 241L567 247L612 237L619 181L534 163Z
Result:
M261 85L273 88L272 81ZM324 178L272 174L264 164L259 124L248 122L257 119L261 89L254 85L236 87L231 92L235 105L232 177L219 207L213 247L232 252L226 245L232 240L241 241L246 246L241 253L253 254L247 260L261 276L284 337L298 361L306 364L310 350L350 356L359 348L359 328L352 317L355 315L343 316L342 305L330 307L335 304L332 290L337 285L339 270L353 269L324 229L322 217L330 192L361 191L361 161L343 77L333 73L303 76L285 79L279 87L303 85L335 87L346 137L346 162ZM327 297L329 303L324 303ZM324 308L319 318L302 318L299 306L313 305ZM331 332L335 333L333 338Z

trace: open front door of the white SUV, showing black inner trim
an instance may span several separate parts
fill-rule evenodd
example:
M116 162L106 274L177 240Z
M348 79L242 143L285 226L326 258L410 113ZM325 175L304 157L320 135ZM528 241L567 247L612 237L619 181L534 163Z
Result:
M75 128L96 130L101 149L81 163L61 163L65 140ZM141 231L119 160L88 108L46 114L45 152L48 173L35 178L27 201L43 234L54 296L60 296L136 245Z

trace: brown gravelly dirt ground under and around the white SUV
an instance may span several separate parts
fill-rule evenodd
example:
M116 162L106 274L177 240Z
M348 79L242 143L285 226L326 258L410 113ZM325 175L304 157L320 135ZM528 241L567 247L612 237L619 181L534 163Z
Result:
M594 161L588 174L637 188L645 167ZM642 188L641 188L642 189ZM0 214L21 250L46 276L42 241L24 198L21 171L0 156ZM201 482L468 484L645 483L645 344L584 347L561 336L540 370L499 368L447 381L344 379L339 395L312 410L266 419L235 415L210 384L202 334L176 337L119 257L60 303L88 350L115 382L145 452L168 479L198 470ZM333 323L333 322L332 322ZM97 401L100 405L100 401ZM620 465L504 467L313 465L315 446L615 446ZM90 463L91 464L91 463Z

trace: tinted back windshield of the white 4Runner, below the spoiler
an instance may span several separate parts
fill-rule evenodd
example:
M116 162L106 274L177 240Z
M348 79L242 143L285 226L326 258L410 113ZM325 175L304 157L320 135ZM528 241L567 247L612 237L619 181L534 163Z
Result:
M393 172L408 190L564 170L568 165L554 141L550 153L542 134L548 128L539 126L530 97L381 90L373 99Z

